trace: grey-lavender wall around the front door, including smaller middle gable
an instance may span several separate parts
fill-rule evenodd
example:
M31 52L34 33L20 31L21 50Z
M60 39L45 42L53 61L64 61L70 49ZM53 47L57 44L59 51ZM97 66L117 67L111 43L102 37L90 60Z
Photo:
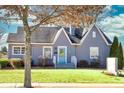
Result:
M67 62L71 62L71 56L75 55L75 47L70 44L64 32L62 31L54 45L32 45L32 58L35 62L35 65L38 64L38 57L43 56L43 46L52 46L53 56L57 58L57 47L58 46L67 46Z

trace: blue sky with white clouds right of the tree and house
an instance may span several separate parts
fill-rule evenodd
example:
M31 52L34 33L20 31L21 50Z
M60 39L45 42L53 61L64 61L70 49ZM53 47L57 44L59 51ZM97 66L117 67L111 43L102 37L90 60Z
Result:
M101 29L111 40L114 36L117 36L124 45L124 6L107 6L102 15L105 17L98 21Z

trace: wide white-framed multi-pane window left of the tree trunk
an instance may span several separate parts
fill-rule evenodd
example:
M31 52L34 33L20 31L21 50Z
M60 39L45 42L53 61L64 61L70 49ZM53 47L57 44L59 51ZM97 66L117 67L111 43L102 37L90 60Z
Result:
M14 46L13 55L23 55L25 54L25 47L23 46Z

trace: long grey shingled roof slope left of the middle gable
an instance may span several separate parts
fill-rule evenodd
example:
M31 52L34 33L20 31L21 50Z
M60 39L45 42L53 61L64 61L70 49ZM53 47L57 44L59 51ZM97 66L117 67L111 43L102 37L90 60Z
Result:
M32 33L32 43L52 43L59 27L40 27L38 30ZM18 28L17 33L10 33L7 39L9 43L24 43L24 31L23 28Z

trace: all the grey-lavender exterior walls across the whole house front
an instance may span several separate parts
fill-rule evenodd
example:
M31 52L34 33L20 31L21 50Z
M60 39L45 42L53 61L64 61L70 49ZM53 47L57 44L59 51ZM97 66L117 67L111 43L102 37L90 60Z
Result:
M96 32L96 38L92 38L92 31ZM24 46L23 44L8 44L8 58L23 58L23 55L12 55L12 46ZM87 60L90 63L90 47L99 47L100 64L105 65L106 57L109 55L109 46L106 45L105 41L101 37L100 33L94 26L88 36L85 38L84 42L78 46L72 46L67 39L65 33L62 31L56 40L54 45L32 45L32 59L34 64L38 64L38 57L43 55L43 46L52 46L53 55L57 57L57 47L67 46L67 62L71 62L71 56L76 56L78 61Z

